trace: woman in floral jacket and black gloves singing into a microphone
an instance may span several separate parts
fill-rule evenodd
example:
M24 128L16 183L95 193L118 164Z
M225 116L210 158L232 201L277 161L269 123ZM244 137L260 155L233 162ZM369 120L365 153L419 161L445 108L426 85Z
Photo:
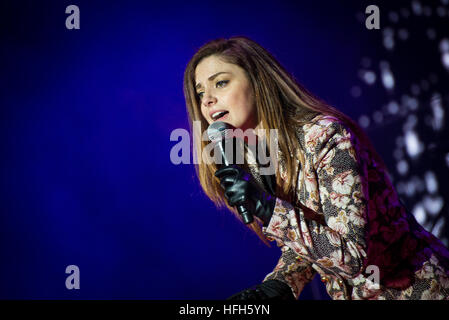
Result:
M298 299L317 272L332 299L448 299L449 252L401 204L366 134L264 48L245 37L205 44L187 65L184 94L191 126L278 129L275 175L196 166L217 206L240 220L235 206L251 208L248 226L282 251L261 284L232 299ZM208 142L195 142L201 157Z

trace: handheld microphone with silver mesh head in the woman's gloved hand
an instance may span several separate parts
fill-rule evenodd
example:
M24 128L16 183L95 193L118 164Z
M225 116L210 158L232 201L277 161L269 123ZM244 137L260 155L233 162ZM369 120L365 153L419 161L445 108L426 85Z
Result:
M216 121L212 123L209 128L207 128L207 135L209 137L209 140L215 145L218 146L218 149L221 153L222 162L224 165L229 165L229 159L227 158L226 152L225 152L225 145L227 142L231 142L232 146L235 141L233 136L233 130L235 128L223 121ZM229 145L229 143L227 143ZM243 218L243 222L245 224L249 224L254 221L254 217L251 213L248 212L248 210L245 208L244 205L238 205L237 211L240 213L240 215Z

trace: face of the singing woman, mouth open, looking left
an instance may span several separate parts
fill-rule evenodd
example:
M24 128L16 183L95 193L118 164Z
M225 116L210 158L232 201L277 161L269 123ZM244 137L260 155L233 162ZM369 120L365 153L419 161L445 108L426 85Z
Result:
M195 69L195 85L201 113L209 124L223 121L243 131L256 129L256 106L245 70L209 56Z

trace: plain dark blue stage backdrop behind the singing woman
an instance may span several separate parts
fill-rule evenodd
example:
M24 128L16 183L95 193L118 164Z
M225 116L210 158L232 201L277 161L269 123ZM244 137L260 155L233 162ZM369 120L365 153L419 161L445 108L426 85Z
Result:
M70 4L80 30L65 28ZM370 111L350 88L380 31L356 19L366 4L344 5L2 2L0 298L223 299L259 283L279 249L170 161L170 133L188 129L184 68L205 42L245 35L347 114ZM326 298L319 279L312 298Z

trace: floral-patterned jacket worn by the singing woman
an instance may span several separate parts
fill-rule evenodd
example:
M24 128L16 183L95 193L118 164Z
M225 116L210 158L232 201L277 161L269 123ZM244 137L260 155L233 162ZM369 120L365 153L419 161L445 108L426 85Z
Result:
M449 299L448 250L405 209L370 150L332 116L297 135L303 206L276 199L262 230L282 254L264 281L286 282L298 298L318 272L332 299Z

